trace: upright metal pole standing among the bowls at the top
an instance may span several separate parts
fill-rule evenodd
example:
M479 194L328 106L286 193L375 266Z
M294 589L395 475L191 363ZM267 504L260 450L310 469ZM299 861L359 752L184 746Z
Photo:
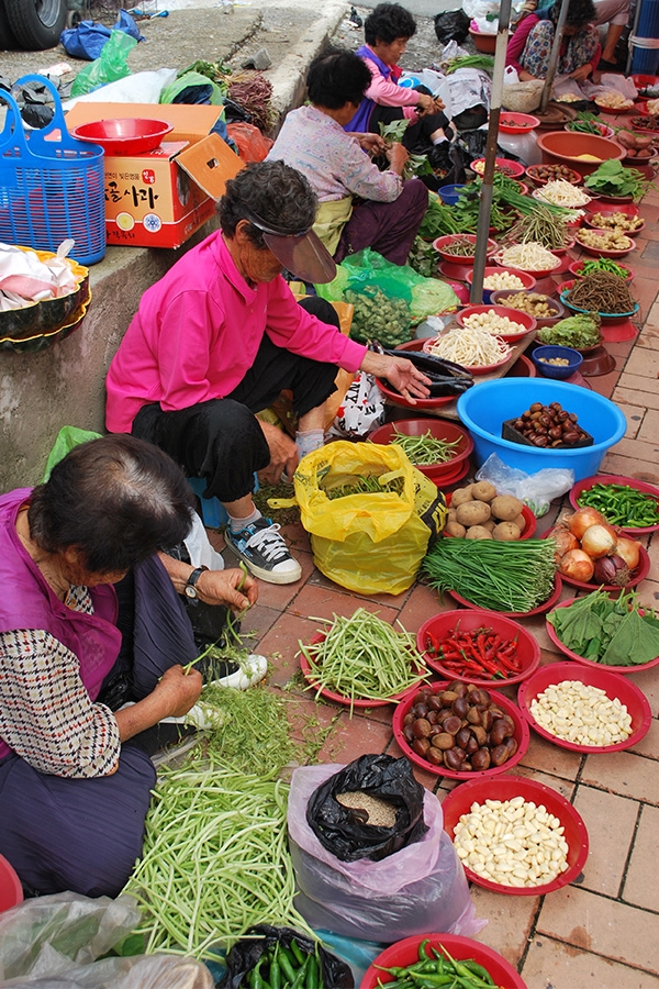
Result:
M476 231L476 255L473 258L473 279L469 296L472 304L480 304L483 299L483 277L488 260L488 235L490 233L490 213L492 211L492 180L496 159L496 137L499 136L499 115L501 112L501 92L505 74L505 49L511 23L511 0L501 0L499 10L499 30L494 51L494 69L492 71L492 97L490 99L490 118L488 123L488 141L485 144L485 168L481 182L480 203L478 208L478 226Z

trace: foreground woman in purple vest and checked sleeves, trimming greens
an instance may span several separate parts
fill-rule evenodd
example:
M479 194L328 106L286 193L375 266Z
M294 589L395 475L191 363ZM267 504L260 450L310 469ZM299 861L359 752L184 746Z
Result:
M181 666L198 655L179 597L191 568L164 552L188 535L192 498L167 454L129 435L0 497L0 854L27 896L116 896L141 854L150 730L202 686ZM256 600L241 570L202 576L209 602ZM110 682L131 705L102 702Z

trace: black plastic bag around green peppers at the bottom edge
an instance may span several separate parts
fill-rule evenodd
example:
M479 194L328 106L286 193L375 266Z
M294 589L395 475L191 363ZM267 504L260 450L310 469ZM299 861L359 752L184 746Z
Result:
M239 986L245 986L245 975L252 971L263 953L278 942L282 947L288 948L293 937L302 954L315 954L315 942L291 927L271 927L270 924L256 924L250 927L246 932L245 941L237 941L226 956L226 973L216 984L217 987L238 989ZM354 989L353 973L345 962L325 951L321 945L319 945L319 957L323 986L332 986L332 989Z

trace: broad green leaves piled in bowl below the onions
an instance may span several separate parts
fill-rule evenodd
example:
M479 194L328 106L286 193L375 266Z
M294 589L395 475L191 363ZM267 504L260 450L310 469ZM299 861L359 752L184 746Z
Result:
M549 612L565 646L602 666L640 666L659 656L659 620L634 591L612 600L602 589Z

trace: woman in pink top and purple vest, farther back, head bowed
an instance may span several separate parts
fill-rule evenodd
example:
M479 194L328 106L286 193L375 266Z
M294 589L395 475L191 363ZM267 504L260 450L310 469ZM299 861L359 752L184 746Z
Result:
M380 133L380 123L406 119L403 146L407 151L427 151L450 136L445 133L448 118L444 103L427 91L399 86L402 69L399 58L405 54L416 33L416 21L400 3L378 3L364 24L366 44L357 48L371 74L371 85L355 115L344 125L348 132Z

